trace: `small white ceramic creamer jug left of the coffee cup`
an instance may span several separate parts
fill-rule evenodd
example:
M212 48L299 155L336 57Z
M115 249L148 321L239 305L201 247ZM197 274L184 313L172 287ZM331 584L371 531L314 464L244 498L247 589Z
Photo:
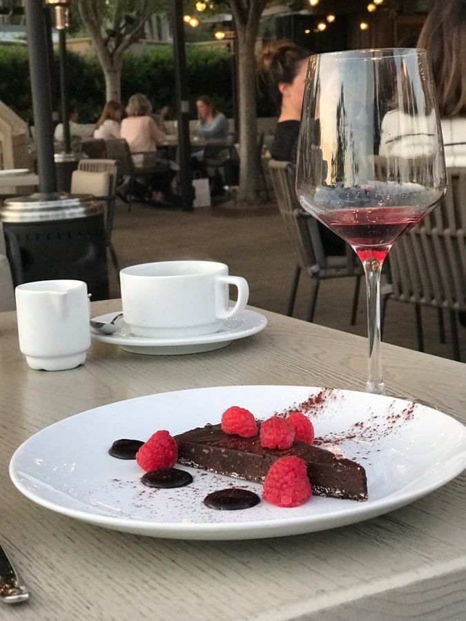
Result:
M80 280L41 280L15 289L19 348L30 368L64 371L86 362L88 288Z

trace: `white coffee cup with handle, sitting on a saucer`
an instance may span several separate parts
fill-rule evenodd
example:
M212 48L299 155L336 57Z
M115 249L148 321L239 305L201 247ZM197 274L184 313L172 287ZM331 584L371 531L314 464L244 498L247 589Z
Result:
M229 307L229 286L237 299ZM230 276L228 266L212 261L165 261L120 271L122 310L137 336L169 338L204 335L222 328L224 319L246 306L249 286Z

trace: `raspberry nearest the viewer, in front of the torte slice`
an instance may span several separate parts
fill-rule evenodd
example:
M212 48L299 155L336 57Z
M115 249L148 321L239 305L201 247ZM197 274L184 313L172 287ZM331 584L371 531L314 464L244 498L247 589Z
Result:
M277 506L300 506L312 495L307 467L299 457L280 457L264 480L264 500Z

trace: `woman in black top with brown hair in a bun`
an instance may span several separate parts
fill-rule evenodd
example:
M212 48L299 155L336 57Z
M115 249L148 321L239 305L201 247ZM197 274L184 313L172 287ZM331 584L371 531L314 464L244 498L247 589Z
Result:
M298 135L307 63L311 52L292 41L273 41L262 52L260 69L269 81L271 97L277 104L279 117L271 156L279 161L296 163ZM327 255L344 255L343 240L320 222L320 236Z

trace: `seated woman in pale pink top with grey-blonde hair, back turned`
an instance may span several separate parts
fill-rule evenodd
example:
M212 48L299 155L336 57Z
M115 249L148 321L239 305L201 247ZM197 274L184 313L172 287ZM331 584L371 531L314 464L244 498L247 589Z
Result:
M121 137L126 140L130 151L137 153L133 156L135 166L139 161L144 161L142 154L152 152L155 154L157 145L165 142L165 134L159 129L152 117L151 102L146 95L137 92L132 95L126 106L126 119L122 121ZM140 166L140 164L139 164ZM171 170L154 172L151 177L152 199L159 203L164 203L166 197L171 193L171 180L173 173ZM123 197L129 190L129 179L119 186L118 192Z

